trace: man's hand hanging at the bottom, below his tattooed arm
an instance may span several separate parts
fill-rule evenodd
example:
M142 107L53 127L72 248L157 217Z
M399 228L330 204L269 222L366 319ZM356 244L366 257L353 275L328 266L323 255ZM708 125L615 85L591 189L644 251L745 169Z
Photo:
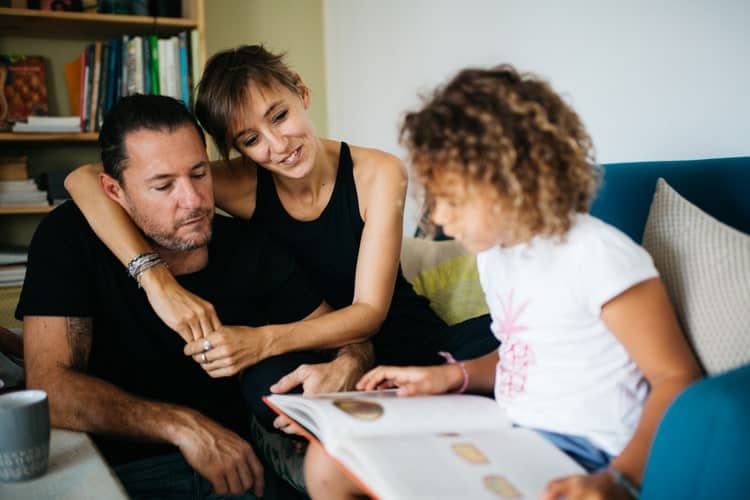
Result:
M241 495L250 488L263 496L263 465L250 445L210 419L197 421L176 440L185 460L205 477L216 495Z

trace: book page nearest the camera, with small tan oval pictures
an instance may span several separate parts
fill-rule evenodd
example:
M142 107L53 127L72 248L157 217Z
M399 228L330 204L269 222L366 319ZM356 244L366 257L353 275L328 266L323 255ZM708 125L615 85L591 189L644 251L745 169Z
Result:
M336 458L383 499L539 498L547 483L584 470L536 432L356 437Z

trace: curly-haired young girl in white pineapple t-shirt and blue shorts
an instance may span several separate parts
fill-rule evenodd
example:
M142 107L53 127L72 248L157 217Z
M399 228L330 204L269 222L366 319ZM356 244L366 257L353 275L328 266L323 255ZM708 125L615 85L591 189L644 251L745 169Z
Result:
M468 69L406 116L402 140L432 221L477 253L501 345L463 365L380 366L357 387L494 388L591 472L547 498L634 493L660 417L700 372L649 255L586 213L598 176L580 119L533 76ZM356 493L319 449L307 458L313 497Z

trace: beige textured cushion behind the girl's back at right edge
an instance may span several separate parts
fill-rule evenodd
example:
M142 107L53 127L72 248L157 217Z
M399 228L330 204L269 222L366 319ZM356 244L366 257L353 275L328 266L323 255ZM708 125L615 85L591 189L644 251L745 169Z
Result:
M643 246L706 372L750 362L750 236L659 179Z

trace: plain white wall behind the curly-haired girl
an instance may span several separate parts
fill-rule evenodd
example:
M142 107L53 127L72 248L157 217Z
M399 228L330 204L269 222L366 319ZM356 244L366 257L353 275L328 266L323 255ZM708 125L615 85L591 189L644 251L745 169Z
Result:
M750 154L746 0L324 0L330 137L404 157L400 117L459 68L568 96L600 162ZM405 233L411 233L413 202Z

